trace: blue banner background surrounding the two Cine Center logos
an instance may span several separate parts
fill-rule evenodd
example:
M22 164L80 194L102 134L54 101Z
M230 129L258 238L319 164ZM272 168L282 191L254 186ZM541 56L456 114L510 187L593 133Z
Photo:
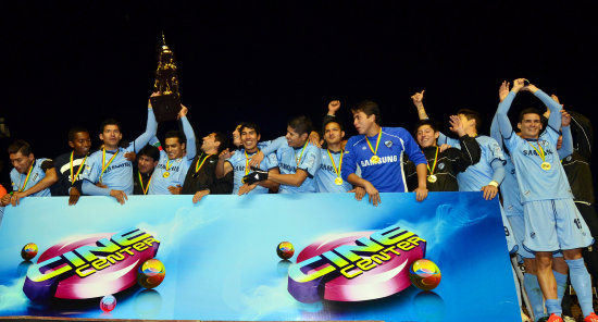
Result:
M482 193L382 194L374 208L350 194L26 198L5 209L0 225L0 315L198 320L518 321L498 201ZM441 270L432 293L411 286L383 299L301 304L287 292L288 264L276 245L289 240L291 258L315 239L399 224L427 240L426 258ZM160 242L166 268L154 289L132 287L102 313L99 299L35 304L22 290L27 243L39 253L65 237L139 227ZM39 257L39 255L38 255ZM37 260L34 259L34 261Z

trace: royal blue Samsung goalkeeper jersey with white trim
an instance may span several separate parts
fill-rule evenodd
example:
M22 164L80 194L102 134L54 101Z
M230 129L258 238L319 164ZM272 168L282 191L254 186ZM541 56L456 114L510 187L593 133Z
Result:
M378 136L369 137L372 147ZM426 163L426 158L411 134L402 127L383 127L382 137L376 151L379 162L371 161L374 153L367 146L364 135L357 135L349 138L345 146L342 161L342 179L351 173L361 169L361 177L369 181L381 193L407 193L404 183L404 171L402 169L403 153L415 165Z

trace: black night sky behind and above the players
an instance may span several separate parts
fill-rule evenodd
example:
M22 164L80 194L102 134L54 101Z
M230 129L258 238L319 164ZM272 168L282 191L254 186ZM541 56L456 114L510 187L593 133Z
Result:
M410 96L421 89L431 117L472 108L487 134L500 83L518 77L595 119L591 1L13 2L1 4L0 116L10 140L30 141L36 157L67 151L73 125L88 127L98 146L109 116L125 138L139 135L162 30L200 138L245 120L274 138L294 115L320 124L332 99L341 100L348 135L348 109L366 98L379 103L383 125L411 131ZM511 114L528 106L544 109L521 94ZM0 144L9 187L9 139Z

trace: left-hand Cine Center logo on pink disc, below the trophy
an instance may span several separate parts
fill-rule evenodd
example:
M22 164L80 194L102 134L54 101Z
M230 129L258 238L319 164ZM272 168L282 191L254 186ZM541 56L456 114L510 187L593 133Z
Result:
M137 268L154 258L159 246L159 240L138 228L62 240L30 267L23 292L32 300L119 293L137 283Z

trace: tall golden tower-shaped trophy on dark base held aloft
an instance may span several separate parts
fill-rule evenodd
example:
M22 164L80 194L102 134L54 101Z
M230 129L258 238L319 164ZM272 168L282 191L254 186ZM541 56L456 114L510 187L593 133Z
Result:
M155 83L153 91L160 96L150 98L155 121L176 120L180 111L180 96L178 95L178 77L176 76L176 63L174 52L166 46L164 33L162 33L162 46L158 53L158 69L155 70Z

